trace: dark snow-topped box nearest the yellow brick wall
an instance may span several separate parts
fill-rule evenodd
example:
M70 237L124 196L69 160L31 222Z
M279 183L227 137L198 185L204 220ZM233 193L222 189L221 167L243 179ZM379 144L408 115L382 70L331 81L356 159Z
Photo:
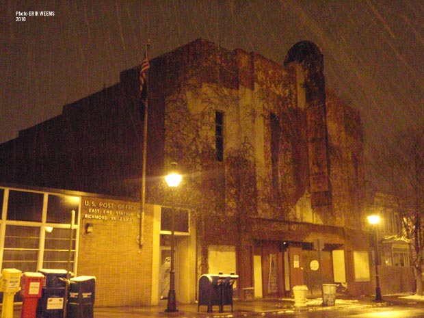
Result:
M71 278L68 289L66 318L93 318L95 289L95 276Z

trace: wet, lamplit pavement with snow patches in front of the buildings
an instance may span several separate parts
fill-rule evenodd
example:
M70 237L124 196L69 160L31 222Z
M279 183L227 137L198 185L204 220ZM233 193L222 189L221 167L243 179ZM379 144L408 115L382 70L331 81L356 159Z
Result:
M415 304L408 300L401 300L397 296L384 296L383 302L374 302L372 297L360 297L360 299L347 298L337 296L336 304L334 306L323 306L320 298L308 300L305 306L294 306L294 300L290 298L271 299L271 300L250 300L241 301L235 300L233 305L233 312L231 306L224 306L224 312L219 313L219 307L213 306L213 313L207 313L207 306L200 306L198 304L178 304L178 312L165 313L166 303L159 306L120 306L120 307L96 307L94 306L93 318L233 318L233 317L255 317L267 315L295 315L299 313L308 313L319 310L363 310L364 308L371 308L375 306L408 306ZM419 304L424 308L424 302ZM14 317L21 318L21 305L14 306ZM28 317L23 317L28 318ZM52 317L53 318L53 317ZM55 317L56 318L56 317ZM59 317L57 317L59 318ZM62 318L62 317L60 317ZM91 318L91 317L83 317Z

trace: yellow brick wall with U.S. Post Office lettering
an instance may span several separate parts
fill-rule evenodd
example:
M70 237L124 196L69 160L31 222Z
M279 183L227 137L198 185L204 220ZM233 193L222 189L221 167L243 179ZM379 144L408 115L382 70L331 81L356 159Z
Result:
M78 276L96 276L96 306L150 305L153 207L144 222L144 246L137 243L138 202L85 197L79 220ZM86 233L87 224L92 233Z

